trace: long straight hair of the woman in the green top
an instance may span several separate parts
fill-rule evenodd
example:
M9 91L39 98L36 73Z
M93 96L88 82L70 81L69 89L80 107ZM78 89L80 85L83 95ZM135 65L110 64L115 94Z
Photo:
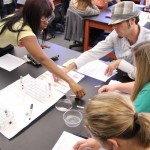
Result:
M133 55L137 68L135 85L131 95L134 101L143 88L143 86L150 82L150 41L142 42L133 48Z

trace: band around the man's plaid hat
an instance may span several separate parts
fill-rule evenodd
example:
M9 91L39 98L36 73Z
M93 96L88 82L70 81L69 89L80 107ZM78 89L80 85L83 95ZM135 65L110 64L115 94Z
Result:
M128 19L128 18L134 18L136 16L139 15L139 12L138 11L135 11L135 12L131 12L129 14L114 14L112 15L111 19Z

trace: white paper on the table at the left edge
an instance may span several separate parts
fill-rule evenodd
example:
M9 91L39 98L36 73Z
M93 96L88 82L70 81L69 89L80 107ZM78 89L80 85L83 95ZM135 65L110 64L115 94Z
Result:
M25 61L23 59L11 54L6 54L0 57L0 67L8 71L12 71L24 63Z

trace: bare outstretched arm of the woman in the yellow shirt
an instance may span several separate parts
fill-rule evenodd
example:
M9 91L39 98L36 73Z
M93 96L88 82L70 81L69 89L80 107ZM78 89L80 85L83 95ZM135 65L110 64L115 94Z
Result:
M29 53L34 56L42 65L44 65L50 72L65 80L77 97L81 98L85 95L84 89L75 83L66 73L64 73L45 53L43 53L36 37L28 36L21 39Z

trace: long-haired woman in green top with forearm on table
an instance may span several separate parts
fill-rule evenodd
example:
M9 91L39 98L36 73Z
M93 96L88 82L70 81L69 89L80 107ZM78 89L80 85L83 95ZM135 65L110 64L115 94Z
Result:
M135 82L105 85L99 92L119 90L131 93L137 112L150 112L150 41L138 44L132 52L137 68Z

